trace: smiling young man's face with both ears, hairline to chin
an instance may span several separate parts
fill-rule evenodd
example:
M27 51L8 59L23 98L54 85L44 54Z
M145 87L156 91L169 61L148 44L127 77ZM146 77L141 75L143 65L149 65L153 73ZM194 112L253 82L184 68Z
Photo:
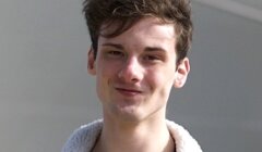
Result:
M165 116L171 87L182 87L189 72L188 59L176 65L175 43L174 25L153 17L117 37L98 38L96 60L94 52L88 54L88 71L96 75L104 117L143 121Z

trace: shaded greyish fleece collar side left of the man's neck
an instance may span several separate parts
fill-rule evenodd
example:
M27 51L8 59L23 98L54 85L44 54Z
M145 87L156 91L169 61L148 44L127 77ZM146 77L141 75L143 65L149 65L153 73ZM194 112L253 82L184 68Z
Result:
M98 119L87 125L83 125L70 136L62 152L88 152L99 137L103 121Z

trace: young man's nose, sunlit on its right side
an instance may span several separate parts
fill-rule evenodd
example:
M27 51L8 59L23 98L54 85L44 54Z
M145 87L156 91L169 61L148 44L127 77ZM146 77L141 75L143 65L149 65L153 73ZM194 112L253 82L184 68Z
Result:
M118 76L126 83L138 83L143 78L143 66L138 59L131 58L123 63Z

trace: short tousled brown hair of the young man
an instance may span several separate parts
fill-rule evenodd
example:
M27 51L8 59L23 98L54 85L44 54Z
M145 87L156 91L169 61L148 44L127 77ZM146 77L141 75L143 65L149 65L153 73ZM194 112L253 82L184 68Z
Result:
M146 16L174 24L177 35L175 45L177 62L187 56L192 42L193 25L189 0L84 0L83 13L95 58L99 36L106 38L119 36ZM100 33L111 27L110 25L116 26L110 33Z

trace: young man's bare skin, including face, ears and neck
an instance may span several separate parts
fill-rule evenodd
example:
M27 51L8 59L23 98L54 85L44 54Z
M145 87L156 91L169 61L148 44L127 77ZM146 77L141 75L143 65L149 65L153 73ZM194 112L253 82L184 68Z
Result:
M174 151L166 105L171 88L182 87L190 71L187 58L176 65L174 25L155 17L142 18L117 37L98 38L96 60L92 49L88 53L104 114L94 151Z

